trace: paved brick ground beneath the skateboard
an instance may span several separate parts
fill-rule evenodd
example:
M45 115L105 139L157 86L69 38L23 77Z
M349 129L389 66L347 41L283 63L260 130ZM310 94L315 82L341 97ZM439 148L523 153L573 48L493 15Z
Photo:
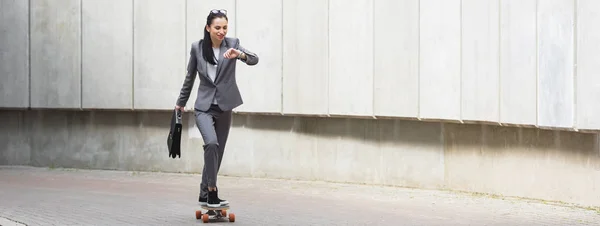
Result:
M4 166L0 225L201 225L199 181ZM600 225L596 211L444 191L233 177L219 184L236 214L221 225Z

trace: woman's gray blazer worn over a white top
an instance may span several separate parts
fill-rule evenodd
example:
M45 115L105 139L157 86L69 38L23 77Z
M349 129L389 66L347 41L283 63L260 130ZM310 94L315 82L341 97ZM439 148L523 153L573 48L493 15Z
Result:
M181 107L186 105L194 86L194 81L196 80L196 73L198 73L200 85L198 86L198 97L194 104L195 109L201 111L208 110L213 103L213 98L217 99L217 104L223 111L229 111L242 105L244 102L235 79L235 66L238 59L225 59L223 53L229 48L240 50L246 54L246 60L240 59L240 61L250 66L258 63L258 56L240 46L238 38L225 37L225 40L221 43L221 51L218 56L219 62L217 63L217 75L215 82L213 82L208 77L207 62L202 57L202 48L200 46L202 41L199 40L192 43L187 75L183 81L183 87L181 88L176 104Z

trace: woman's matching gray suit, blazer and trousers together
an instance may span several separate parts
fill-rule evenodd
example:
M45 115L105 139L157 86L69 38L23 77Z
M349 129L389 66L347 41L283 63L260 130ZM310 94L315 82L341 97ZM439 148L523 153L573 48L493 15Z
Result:
M203 40L192 43L187 75L177 99L177 105L184 107L190 97L190 92L196 80L200 78L198 97L194 104L196 126L204 139L204 169L200 183L200 199L206 199L208 186L216 187L217 173L225 151L225 144L231 126L231 110L242 105L242 97L235 79L237 59L226 59L223 54L234 48L244 52L246 65L256 65L258 56L240 46L239 39L226 37L221 43L218 56L215 81L208 75L207 62L202 57ZM213 104L213 100L217 105Z

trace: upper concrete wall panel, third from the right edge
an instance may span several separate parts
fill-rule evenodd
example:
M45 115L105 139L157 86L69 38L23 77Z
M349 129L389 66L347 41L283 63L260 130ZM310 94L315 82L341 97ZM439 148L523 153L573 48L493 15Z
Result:
M536 0L500 1L500 122L537 123Z

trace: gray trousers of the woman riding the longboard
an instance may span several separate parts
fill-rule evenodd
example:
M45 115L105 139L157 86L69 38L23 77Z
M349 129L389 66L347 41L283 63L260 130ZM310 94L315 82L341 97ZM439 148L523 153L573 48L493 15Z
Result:
M204 139L204 169L200 183L200 196L208 197L208 187L217 186L217 173L231 126L231 111L222 111L218 105L211 105L207 111L194 111L196 126Z

